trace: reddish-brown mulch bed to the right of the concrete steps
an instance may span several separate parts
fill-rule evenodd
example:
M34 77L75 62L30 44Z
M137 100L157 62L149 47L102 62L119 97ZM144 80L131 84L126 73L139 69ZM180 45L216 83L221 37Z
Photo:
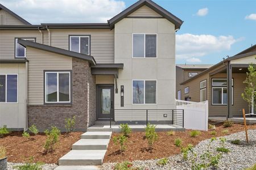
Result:
M256 125L248 125L247 127L248 129L256 129ZM228 129L229 132L225 134L222 133L221 131L224 129ZM180 147L174 145L176 138L182 140L182 146L187 146L189 143L195 146L205 139L225 136L243 130L244 126L240 124L233 124L231 128L224 128L222 124L217 124L215 130L216 135L210 134L212 130L201 131L201 134L197 137L190 136L191 130L177 131L172 136L167 135L167 132L158 132L158 141L154 143L152 151L148 150L147 140L144 137L145 133L133 132L127 140L127 150L123 153L119 151L119 146L115 145L113 142L113 137L118 135L118 133L114 133L110 140L104 163L164 158L180 154Z

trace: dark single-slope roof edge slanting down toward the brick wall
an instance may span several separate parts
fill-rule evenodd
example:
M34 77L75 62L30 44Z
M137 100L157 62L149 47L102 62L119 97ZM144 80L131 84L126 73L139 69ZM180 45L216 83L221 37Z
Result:
M93 58L93 56L89 56L89 55L86 55L86 54L76 53L76 52L72 52L72 51L69 51L69 50L56 48L56 47L53 47L53 46L39 44L39 43L36 43L36 42L32 42L32 41L28 41L28 40L22 40L22 39L18 39L18 43L25 46L25 47L30 46L32 48L44 50L44 51L47 51L47 52L61 54L61 55L68 56L68 57L73 57L73 58L84 59L85 61L88 61L92 65L96 65L96 61Z

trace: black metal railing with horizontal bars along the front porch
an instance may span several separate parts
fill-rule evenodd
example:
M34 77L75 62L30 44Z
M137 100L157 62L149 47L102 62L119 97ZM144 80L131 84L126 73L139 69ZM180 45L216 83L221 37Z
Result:
M112 115L110 115L112 117ZM162 124L184 127L183 109L115 109L114 121L137 125ZM110 118L110 128L112 118Z

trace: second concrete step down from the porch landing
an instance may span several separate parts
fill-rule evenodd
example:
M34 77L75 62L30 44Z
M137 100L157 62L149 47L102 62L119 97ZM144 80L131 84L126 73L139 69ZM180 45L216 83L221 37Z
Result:
M72 145L72 150L106 150L109 139L80 139Z

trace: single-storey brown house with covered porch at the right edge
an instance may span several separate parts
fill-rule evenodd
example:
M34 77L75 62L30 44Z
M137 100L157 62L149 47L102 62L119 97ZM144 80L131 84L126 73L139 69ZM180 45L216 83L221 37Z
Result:
M251 112L241 97L247 67L256 63L256 45L228 57L200 74L181 82L181 99L209 101L209 116L242 116L242 109ZM188 88L186 91L185 88ZM184 92L186 91L186 92Z

